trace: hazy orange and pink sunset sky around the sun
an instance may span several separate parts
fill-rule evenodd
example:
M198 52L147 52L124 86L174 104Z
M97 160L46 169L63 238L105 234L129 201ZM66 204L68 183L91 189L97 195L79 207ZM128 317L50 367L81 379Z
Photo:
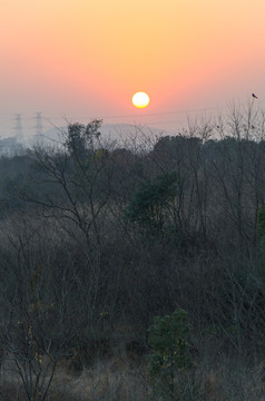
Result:
M16 113L163 127L252 92L264 107L264 0L0 0L0 136Z

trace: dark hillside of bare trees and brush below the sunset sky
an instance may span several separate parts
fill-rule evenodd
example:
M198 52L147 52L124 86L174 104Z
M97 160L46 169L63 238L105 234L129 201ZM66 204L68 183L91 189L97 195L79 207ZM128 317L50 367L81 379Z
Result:
M264 123L0 160L2 400L264 399Z

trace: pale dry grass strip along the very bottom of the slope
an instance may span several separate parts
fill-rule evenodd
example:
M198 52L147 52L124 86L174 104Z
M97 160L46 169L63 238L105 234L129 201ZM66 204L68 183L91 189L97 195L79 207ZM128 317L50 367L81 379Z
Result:
M264 401L265 362L247 364L243 359L219 358L207 364L202 361L181 383L184 392L176 401ZM60 365L48 401L160 401L151 394L146 360L131 361L126 355L97 361L77 376ZM6 376L7 379L7 376ZM0 401L23 401L22 388L4 380Z

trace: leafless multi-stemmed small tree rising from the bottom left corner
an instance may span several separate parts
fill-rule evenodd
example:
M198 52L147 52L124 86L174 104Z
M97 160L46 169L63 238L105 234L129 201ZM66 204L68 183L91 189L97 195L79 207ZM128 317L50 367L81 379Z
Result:
M28 401L46 400L58 362L79 343L88 325L81 277L36 222L17 215L7 231L9 268L1 266L0 338L11 369Z

